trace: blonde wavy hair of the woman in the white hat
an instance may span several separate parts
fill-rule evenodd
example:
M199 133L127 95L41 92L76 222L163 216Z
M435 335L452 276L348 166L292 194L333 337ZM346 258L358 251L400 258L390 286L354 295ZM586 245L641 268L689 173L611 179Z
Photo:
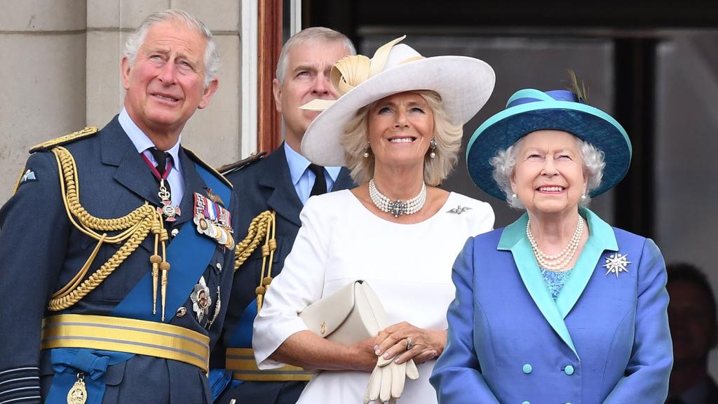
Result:
M418 90L409 91L419 94L434 113L434 141L437 148L434 150L436 157L429 157L432 152L429 149L424 156L424 181L426 185L436 186L447 178L454 170L461 148L461 137L464 134L462 125L452 124L446 111L442 97L436 91ZM363 106L355 116L348 121L340 138L340 144L344 147L345 165L351 172L355 183L367 183L374 176L374 155L364 157L369 142L368 117L369 111L378 102Z

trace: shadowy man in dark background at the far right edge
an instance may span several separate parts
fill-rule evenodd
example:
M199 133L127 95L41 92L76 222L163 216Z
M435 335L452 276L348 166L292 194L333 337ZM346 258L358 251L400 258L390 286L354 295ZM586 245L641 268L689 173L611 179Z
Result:
M667 269L673 369L666 403L718 403L718 386L708 374L708 357L718 342L713 289L694 265L678 263Z

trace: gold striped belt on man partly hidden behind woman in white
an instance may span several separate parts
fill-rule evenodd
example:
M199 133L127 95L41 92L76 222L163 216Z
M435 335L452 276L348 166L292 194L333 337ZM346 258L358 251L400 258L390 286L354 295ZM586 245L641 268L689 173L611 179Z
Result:
M312 372L287 364L277 369L260 370L251 348L227 348L225 367L231 370L235 380L245 382L307 382Z

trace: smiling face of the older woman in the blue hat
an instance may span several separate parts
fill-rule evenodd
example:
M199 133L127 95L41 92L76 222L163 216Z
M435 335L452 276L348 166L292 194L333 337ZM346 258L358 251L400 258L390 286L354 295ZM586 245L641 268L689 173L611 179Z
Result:
M586 187L579 143L572 134L541 130L521 139L511 190L529 212L577 211Z

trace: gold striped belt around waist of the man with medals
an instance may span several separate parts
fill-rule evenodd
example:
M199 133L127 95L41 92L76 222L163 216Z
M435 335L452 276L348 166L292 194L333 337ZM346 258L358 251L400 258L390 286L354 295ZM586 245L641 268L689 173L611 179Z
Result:
M184 327L110 316L60 314L42 321L42 349L90 348L173 359L208 372L210 338Z

